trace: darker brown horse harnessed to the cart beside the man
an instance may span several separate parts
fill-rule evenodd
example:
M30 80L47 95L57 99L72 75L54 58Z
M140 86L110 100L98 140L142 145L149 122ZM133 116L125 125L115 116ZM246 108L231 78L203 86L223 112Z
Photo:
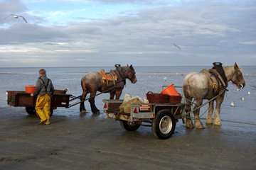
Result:
M115 65L116 69L114 69L114 73L117 74L117 82L114 81L103 81L102 74L100 72L89 72L81 79L82 86L82 96L80 100L80 113L86 113L85 110L85 98L88 93L90 93L90 106L92 109L92 113L100 113L100 111L95 106L95 95L97 91L110 93L110 99L119 99L122 94L122 90L124 89L124 85L126 84L126 79L129 79L132 84L137 82L137 78L135 76L135 71L132 65L127 65L126 67L121 67L120 64Z

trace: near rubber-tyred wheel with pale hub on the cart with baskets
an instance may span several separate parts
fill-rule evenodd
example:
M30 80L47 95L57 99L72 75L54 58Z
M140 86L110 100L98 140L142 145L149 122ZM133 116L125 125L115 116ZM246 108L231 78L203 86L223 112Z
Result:
M152 122L152 132L155 137L166 140L174 134L176 121L174 114L170 111L159 111Z

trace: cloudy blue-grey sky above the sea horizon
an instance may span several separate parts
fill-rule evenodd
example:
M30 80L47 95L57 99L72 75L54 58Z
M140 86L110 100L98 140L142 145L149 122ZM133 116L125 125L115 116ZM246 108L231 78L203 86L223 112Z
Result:
M255 18L255 0L0 0L0 67L256 65Z

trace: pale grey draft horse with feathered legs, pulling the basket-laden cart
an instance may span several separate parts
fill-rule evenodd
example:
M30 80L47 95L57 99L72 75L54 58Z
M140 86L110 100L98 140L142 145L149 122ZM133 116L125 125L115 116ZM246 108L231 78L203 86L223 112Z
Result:
M226 84L228 85L228 81L232 81L233 84L238 86L238 88L242 89L245 87L245 80L242 77L242 68L239 67L236 63L233 66L226 66L223 67L226 77ZM191 72L186 75L183 81L183 92L185 98L192 101L192 98L196 100L196 105L194 108L201 106L203 103L203 99L210 100L211 98L217 96L221 93L225 88L219 84L218 91L213 91L213 81L210 80L210 77L207 74L201 72ZM214 125L221 125L220 122L220 106L223 102L225 92L215 98L215 100L210 101L208 107L208 116L206 118L206 124L214 124ZM187 101L187 103L191 103ZM213 115L213 102L216 101L214 119L212 118ZM186 112L191 111L191 107L187 106ZM200 108L194 111L194 123L196 128L203 128L203 124L201 123L199 117ZM193 123L191 120L191 115L188 114L186 116L186 127L193 128Z

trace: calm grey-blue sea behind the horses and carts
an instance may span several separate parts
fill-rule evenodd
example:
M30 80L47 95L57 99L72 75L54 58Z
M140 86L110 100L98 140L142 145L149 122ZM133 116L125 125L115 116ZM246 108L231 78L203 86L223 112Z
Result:
M137 83L132 84L127 79L127 84L122 92L131 96L146 97L151 91L160 93L166 86L174 84L176 90L181 95L183 79L189 72L200 72L201 69L210 69L212 66L164 66L164 67L134 67ZM256 66L241 66L243 77L245 79L245 88L238 88L229 82L228 91L221 106L220 119L223 125L228 128L242 127L244 130L256 129ZM35 86L38 79L39 67L1 67L0 68L0 114L2 108L9 108L6 102L6 91L25 91L25 86ZM46 74L53 81L55 89L68 89L67 94L80 96L82 88L80 85L81 78L88 72L99 72L105 69L109 72L114 67L45 67ZM166 79L164 79L166 77ZM103 113L102 99L110 98L110 94L100 94L95 98L97 108L102 112L102 117L106 117ZM204 101L207 102L207 101ZM235 106L231 106L231 103ZM90 103L85 102L87 114L90 111ZM204 120L208 113L208 106L201 108L201 119ZM25 108L21 107L16 114L26 114ZM79 115L79 105L71 108L57 108L53 115Z

